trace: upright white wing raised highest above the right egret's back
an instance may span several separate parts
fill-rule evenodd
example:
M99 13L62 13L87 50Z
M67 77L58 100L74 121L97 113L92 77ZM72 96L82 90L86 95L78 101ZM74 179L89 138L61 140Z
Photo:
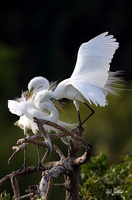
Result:
M119 46L113 35L107 34L108 32L102 33L80 46L71 79L87 80L104 87L111 60Z

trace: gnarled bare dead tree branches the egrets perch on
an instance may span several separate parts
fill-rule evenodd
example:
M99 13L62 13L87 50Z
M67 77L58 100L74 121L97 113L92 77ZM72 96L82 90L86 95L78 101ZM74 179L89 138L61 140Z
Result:
M12 158L14 158L17 153L19 153L25 146L32 143L46 148L46 153L42 159L42 163L44 163L52 150L51 138L58 139L65 136L70 136L72 139L68 148L68 157L65 157L61 150L54 145L54 149L60 157L59 161L49 162L38 168L33 166L27 167L26 175L37 173L39 171L42 171L43 173L37 189L29 187L29 190L26 190L26 192L28 192L26 195L20 195L18 184L18 179L25 175L25 170L17 170L11 174L6 175L0 180L0 185L4 184L7 180L11 180L11 185L16 200L24 199L27 197L30 197L30 199L34 200L39 195L41 195L43 200L48 200L50 197L52 185L54 187L62 187L66 190L66 200L79 200L79 166L90 158L92 146L82 137L80 137L80 131L77 129L70 131L53 122L36 118L35 122L37 123L42 135L27 135L26 138L19 140L18 143L21 143L21 145L14 147L15 152L11 155L8 162L10 163ZM59 129L62 131L62 133L48 135L44 129L45 124ZM43 139L43 141L39 141L39 139ZM85 152L82 156L77 157L76 153L81 148L81 146L85 148ZM53 184L53 180L57 179L60 175L64 175L65 182L62 184Z

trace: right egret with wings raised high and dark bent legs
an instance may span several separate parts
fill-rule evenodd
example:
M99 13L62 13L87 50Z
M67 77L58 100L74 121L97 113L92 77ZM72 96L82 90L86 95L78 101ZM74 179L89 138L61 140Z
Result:
M110 63L119 44L113 35L102 33L89 42L83 43L78 51L75 69L70 78L58 84L54 91L47 90L43 95L43 101L56 101L62 98L73 100L78 112L79 127L94 114L94 110L86 103L96 106L107 104L106 96L108 93L115 94L112 87L119 78L118 72L110 72ZM39 78L33 81L29 87L29 96L33 89L40 85ZM79 102L84 103L91 114L81 122L79 112Z

